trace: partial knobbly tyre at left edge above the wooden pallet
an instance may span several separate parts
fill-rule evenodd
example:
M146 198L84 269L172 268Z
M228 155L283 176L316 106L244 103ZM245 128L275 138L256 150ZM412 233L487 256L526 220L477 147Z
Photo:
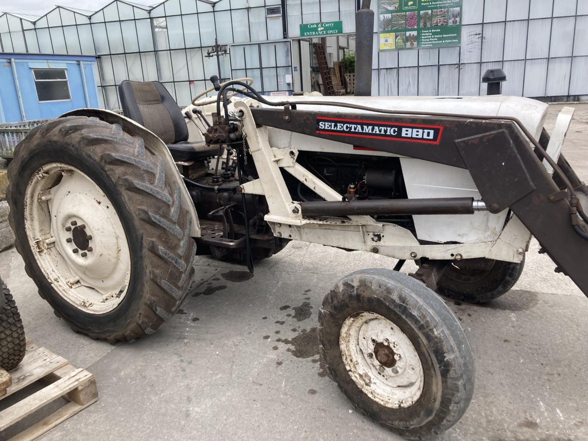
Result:
M25 329L12 294L1 278L0 286L4 296L0 302L0 368L12 370L25 356Z

